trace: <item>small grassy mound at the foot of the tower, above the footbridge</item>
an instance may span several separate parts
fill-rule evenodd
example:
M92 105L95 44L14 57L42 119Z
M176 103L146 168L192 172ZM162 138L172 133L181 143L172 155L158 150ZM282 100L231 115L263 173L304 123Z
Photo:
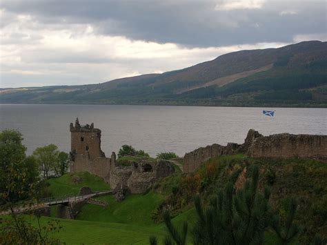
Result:
M51 196L77 194L83 186L88 186L93 191L109 190L110 186L101 177L88 172L66 173L59 178L48 179Z

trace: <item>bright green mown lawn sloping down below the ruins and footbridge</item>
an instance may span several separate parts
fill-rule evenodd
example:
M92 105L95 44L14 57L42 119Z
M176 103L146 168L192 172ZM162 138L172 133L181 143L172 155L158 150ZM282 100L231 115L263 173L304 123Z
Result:
M128 195L117 202L112 195L98 197L108 202L107 207L86 204L75 220L60 219L63 229L54 234L67 244L148 244L150 236L155 236L159 244L168 234L164 223L155 224L151 219L152 211L164 199L157 193ZM192 208L172 219L181 228L183 222L195 221ZM42 217L43 222L50 218ZM189 226L191 227L191 226ZM188 236L191 244L191 236Z

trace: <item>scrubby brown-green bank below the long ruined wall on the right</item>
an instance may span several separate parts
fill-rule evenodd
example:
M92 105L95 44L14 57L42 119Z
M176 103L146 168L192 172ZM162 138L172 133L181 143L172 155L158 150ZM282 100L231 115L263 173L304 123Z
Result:
M298 239L309 244L315 234L327 238L327 164L313 159L252 159L242 155L210 159L192 175L179 179L171 177L170 184L158 183L158 192L171 192L158 206L153 218L161 220L162 210L170 206L173 215L193 206L193 197L200 195L205 203L228 181L235 188L244 184L244 177L250 177L253 166L259 167L259 189L271 190L270 206L284 219L291 197L295 197L298 210L296 222L303 226ZM273 235L267 233L267 239ZM274 239L273 239L274 240ZM268 241L267 241L268 242Z

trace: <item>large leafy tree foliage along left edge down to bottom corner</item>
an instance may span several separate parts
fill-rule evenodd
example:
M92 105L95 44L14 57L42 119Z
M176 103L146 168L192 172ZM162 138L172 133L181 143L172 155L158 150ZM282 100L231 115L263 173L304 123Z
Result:
M48 237L52 231L59 231L58 222L33 226L18 209L33 210L36 204L39 172L33 157L26 157L23 137L16 130L0 133L0 211L10 217L0 217L1 244L60 244L58 239ZM19 202L24 200L24 202Z

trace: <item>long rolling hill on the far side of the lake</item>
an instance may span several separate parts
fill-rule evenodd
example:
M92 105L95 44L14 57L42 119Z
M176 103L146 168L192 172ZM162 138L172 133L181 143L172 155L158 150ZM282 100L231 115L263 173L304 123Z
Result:
M102 84L2 88L0 103L326 107L327 42L241 50Z

